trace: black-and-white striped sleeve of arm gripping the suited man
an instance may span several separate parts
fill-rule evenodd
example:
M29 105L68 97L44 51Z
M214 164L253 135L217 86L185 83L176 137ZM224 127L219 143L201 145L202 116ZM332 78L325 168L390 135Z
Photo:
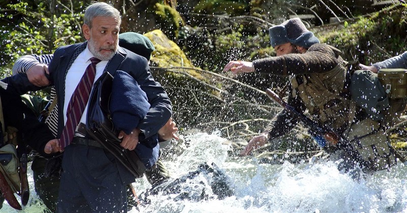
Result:
M19 57L13 66L13 75L18 73L26 73L28 69L38 64L49 64L52 59L52 54L45 55L24 55Z

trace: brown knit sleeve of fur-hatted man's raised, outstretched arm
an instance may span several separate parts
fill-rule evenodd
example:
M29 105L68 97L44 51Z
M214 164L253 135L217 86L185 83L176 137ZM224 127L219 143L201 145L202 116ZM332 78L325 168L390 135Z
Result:
M267 57L253 61L256 72L289 76L329 72L339 64L336 53L329 45L314 44L307 52Z

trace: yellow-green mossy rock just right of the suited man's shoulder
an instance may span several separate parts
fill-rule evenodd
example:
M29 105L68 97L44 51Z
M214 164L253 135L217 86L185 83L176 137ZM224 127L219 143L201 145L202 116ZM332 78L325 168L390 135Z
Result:
M220 105L217 98L219 94L213 85L218 85L221 81L195 67L181 48L159 29L144 36L155 47L150 59L152 74L164 86L171 99L177 126L187 128L215 116L219 109L206 111L202 108L212 105L212 108L216 108Z

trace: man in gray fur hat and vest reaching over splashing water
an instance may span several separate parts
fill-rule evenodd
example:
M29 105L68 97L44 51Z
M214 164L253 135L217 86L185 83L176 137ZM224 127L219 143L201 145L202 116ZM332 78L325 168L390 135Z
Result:
M277 53L276 57L257 59L253 62L231 61L224 67L224 71L230 70L234 74L261 72L291 76L288 104L300 113L307 109L314 121L319 125L331 127L337 134L350 140L350 144L346 145L352 146L362 156L345 152L344 168L350 169L360 164L365 171L375 171L394 165L396 161L394 153L391 151L392 147L387 145L386 139L382 140L383 137L375 137L381 138L379 141L366 139L367 135L377 132L360 136L362 141L363 138L367 140L362 143L351 138L353 132L356 132L356 127L365 125L376 129L379 124L375 120L366 121L368 115L352 100L351 75L345 68L346 62L340 56L341 51L327 44L320 44L299 18L273 26L269 32L271 46ZM249 141L241 155L247 156L253 149L268 142L272 143L273 139L292 130L298 121L298 117L283 109L263 133ZM372 144L375 144L374 147ZM337 150L335 144L330 141L319 145L324 148L331 145L329 150L331 147ZM377 150L383 155L376 155L375 147L380 147Z

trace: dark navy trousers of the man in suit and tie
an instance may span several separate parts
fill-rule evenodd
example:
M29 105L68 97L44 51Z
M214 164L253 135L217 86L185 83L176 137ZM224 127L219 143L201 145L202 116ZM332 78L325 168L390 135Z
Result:
M126 185L114 156L102 148L65 148L57 212L127 212Z

